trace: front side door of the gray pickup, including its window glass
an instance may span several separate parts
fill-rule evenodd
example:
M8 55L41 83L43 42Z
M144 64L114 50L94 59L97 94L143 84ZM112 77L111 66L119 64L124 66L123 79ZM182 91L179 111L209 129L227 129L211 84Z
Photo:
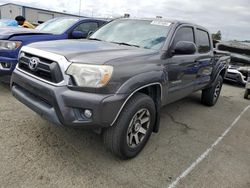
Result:
M171 49L179 41L188 41L195 43L194 27L181 26L175 32ZM196 78L196 59L197 54L192 55L174 55L167 59L165 64L168 70L169 89L168 103L183 98L194 90L194 81Z

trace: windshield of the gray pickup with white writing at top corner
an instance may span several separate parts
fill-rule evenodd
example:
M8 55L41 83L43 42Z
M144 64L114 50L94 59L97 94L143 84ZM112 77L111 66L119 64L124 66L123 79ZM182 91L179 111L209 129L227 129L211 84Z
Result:
M157 50L165 42L170 25L165 20L114 20L89 39Z

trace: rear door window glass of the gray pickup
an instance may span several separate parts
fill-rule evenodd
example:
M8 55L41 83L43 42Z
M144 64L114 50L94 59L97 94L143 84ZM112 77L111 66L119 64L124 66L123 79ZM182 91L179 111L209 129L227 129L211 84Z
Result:
M199 53L207 53L210 51L211 45L210 45L210 39L208 32L203 31L201 29L197 29L197 47Z

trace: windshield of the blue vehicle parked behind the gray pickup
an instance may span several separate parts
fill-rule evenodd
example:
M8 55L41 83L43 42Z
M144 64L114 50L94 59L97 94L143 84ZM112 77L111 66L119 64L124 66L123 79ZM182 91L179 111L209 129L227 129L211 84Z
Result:
M36 30L53 34L62 34L77 21L79 21L77 18L54 18L39 25L36 27Z

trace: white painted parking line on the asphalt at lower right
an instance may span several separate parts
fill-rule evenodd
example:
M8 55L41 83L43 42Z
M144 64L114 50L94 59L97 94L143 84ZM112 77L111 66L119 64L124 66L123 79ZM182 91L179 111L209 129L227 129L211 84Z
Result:
M250 108L250 105L247 106L240 115L234 120L234 122L225 130L225 132L199 157L194 161L179 177L173 181L168 188L175 188L176 185L180 182L181 179L185 178L201 161L203 161L208 154L218 145L221 140L228 134L228 132L235 126L239 119L244 115L244 113Z

